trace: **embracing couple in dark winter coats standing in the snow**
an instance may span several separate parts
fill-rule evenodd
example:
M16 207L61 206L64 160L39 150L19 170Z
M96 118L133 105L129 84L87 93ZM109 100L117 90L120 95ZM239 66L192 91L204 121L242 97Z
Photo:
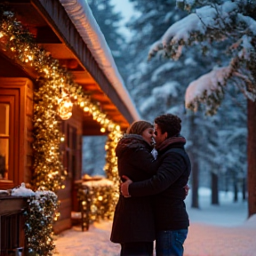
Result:
M117 144L123 183L110 240L121 244L120 256L152 256L155 240L156 256L183 255L191 164L180 130L180 117L161 115L154 125L132 123Z

